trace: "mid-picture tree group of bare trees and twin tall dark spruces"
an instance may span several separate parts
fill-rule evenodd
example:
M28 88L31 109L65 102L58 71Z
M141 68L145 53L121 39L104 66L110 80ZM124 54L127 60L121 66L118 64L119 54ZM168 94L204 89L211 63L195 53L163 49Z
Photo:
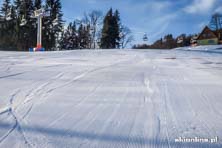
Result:
M63 30L60 48L72 49L119 49L133 41L131 30L122 25L120 13L112 8L103 16L99 10L85 13Z

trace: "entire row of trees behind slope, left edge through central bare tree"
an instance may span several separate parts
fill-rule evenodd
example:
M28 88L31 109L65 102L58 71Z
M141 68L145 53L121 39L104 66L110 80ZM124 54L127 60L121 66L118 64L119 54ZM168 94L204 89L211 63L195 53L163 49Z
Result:
M81 20L66 23L60 0L4 0L0 8L0 49L27 51L36 46L34 11L43 8L42 46L46 50L125 48L132 40L120 13L112 8L85 13Z

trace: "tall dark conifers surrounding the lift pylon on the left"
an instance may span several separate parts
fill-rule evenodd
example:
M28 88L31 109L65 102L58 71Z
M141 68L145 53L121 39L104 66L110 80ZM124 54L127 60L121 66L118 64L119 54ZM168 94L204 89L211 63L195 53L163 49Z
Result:
M48 50L57 46L62 31L62 6L60 0L4 0L0 9L0 49L28 50L36 45L37 24L34 11L44 8L43 45Z

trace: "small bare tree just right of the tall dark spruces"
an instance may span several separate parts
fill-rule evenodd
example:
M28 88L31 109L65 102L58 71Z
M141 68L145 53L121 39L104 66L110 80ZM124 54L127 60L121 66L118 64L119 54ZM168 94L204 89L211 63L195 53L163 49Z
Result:
M120 47L122 49L126 48L126 46L134 40L132 35L132 31L127 26L121 26L120 32Z

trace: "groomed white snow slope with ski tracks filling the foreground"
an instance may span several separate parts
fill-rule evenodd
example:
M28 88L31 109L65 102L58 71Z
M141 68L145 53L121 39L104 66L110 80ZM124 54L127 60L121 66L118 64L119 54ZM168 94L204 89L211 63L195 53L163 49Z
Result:
M0 147L222 147L222 54L205 48L1 51Z

